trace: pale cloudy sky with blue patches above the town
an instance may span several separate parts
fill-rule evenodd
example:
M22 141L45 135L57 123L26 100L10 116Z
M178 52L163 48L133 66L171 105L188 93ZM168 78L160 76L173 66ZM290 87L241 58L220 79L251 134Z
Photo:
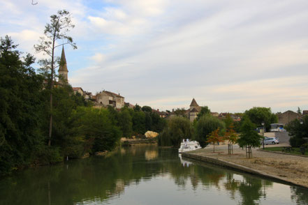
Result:
M34 45L45 24L68 10L78 46L65 46L72 86L161 110L187 109L193 98L212 112L308 109L307 0L34 3L0 1L0 36L42 59Z

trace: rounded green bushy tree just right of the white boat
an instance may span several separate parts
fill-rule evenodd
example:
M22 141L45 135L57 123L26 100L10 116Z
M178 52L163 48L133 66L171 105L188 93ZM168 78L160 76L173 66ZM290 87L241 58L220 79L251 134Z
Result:
M207 145L207 135L217 130L217 128L220 128L223 132L226 125L217 117L210 114L203 115L196 123L194 139L200 143L200 146L205 147Z

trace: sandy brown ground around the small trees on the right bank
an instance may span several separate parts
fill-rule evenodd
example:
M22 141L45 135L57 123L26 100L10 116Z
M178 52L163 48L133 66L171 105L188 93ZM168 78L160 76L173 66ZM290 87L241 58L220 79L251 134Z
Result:
M267 146L288 146L288 144ZM233 162L237 165L256 169L269 176L274 176L308 188L308 158L305 157L253 149L253 158L247 159L245 150L240 149L237 145L233 146L233 155L228 155L228 146L226 144L215 145L215 153L213 153L212 145L190 153Z

